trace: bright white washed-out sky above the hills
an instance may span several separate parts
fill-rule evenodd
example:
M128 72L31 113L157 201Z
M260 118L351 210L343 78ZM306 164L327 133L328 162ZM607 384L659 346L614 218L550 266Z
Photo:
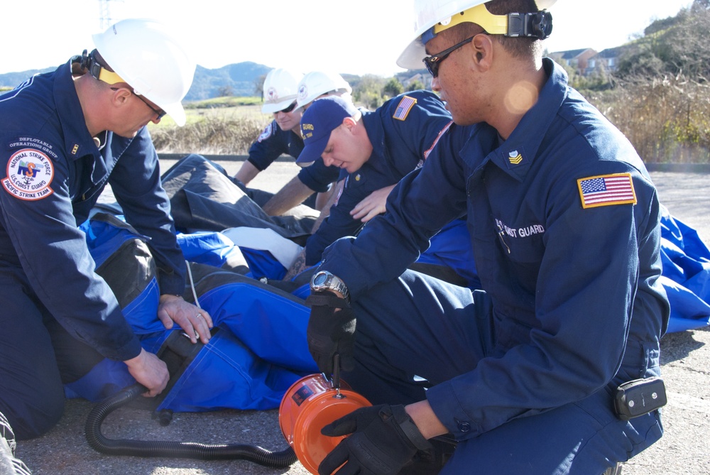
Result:
M100 31L99 0L4 1L0 73L60 65ZM625 43L655 18L674 16L692 0L558 0L550 11L550 51ZM411 40L410 0L110 0L111 18L174 23L208 68L253 61L302 72L334 70L389 76Z

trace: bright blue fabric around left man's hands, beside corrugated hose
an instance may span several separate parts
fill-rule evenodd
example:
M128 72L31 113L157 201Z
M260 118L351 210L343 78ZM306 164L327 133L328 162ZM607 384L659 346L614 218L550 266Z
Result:
M125 251L132 248L124 245L145 241L134 229L116 219L109 222L93 219L82 229L97 266L111 256L120 256L118 260L131 259L130 251ZM219 236L202 233L200 241L204 244L202 248L208 251L197 252L195 256L203 261L216 264L230 254L226 249L229 246L222 246L226 241L220 241ZM195 239L183 239L182 244L185 242L194 244ZM200 306L212 315L219 332L202 346L170 391L161 395L164 398L158 410L277 408L283 394L295 381L317 372L305 338L310 310L288 293L272 293L266 285L253 279L219 268L211 269L202 268L202 274L229 277L217 280L221 284L207 290L202 285L199 295ZM205 275L202 278L205 280ZM154 276L136 285L142 285L143 290L124 305L124 315L140 335L143 348L156 353L171 332L182 330L166 330L158 320L159 293ZM119 297L119 302L121 300ZM133 383L135 380L125 364L104 359L80 380L65 385L65 395L98 401Z

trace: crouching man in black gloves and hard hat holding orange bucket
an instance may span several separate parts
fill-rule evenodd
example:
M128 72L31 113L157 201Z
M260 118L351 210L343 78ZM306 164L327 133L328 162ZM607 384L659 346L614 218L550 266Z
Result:
M657 192L542 58L552 3L415 1L398 64L424 60L455 124L312 278L311 353L374 404L323 428L349 437L322 475L396 474L445 434L442 474L601 475L662 435ZM405 272L464 214L485 292Z

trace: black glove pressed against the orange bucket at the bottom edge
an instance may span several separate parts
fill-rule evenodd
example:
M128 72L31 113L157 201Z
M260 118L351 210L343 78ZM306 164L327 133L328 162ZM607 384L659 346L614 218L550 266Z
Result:
M394 475L417 450L432 447L403 405L357 409L320 432L329 437L352 434L323 459L318 466L320 475L330 475L342 464L337 475Z

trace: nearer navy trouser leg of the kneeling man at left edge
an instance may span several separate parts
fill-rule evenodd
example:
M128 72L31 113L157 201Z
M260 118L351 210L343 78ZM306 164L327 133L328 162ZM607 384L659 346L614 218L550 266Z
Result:
M44 307L26 292L21 272L0 268L0 412L18 439L47 432L62 417L64 389Z

